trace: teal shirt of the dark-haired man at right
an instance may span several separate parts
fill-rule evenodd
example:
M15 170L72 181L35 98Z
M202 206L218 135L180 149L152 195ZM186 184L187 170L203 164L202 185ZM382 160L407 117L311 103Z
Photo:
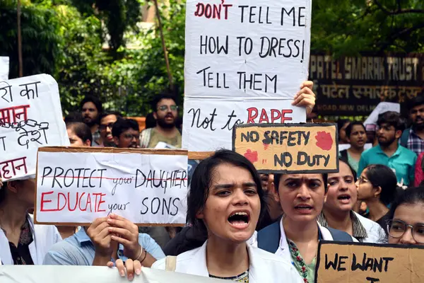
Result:
M400 183L401 180L404 180L404 185L408 186L413 184L416 161L417 155L404 146L399 145L396 152L389 157L384 154L382 148L377 145L372 149L364 151L360 156L358 177L365 167L371 164L382 164L394 169L398 182Z

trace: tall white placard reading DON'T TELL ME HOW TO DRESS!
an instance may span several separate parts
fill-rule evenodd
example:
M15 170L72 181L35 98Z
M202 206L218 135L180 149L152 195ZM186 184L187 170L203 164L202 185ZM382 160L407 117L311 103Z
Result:
M231 147L232 127L305 122L310 0L187 1L184 127L189 151ZM282 121L281 121L282 120Z

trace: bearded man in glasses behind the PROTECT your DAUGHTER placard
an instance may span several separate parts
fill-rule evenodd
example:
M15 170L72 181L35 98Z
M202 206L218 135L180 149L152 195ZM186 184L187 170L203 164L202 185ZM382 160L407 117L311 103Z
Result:
M154 98L152 108L156 127L141 132L141 148L154 148L162 141L180 149L181 133L175 125L178 117L178 106L175 103L175 98L169 94L160 94Z

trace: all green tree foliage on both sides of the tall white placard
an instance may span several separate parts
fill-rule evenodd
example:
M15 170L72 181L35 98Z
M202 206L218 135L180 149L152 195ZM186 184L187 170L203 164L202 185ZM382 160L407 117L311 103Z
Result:
M159 1L163 3L163 1ZM81 98L99 96L105 108L146 115L149 101L169 81L160 33L134 33L141 48L124 48L124 34L139 21L148 0L23 0L24 74L52 74L64 114ZM359 52L424 52L423 0L314 0L312 51L336 56ZM184 91L185 1L160 6L174 91ZM0 1L0 55L11 57L18 74L16 0ZM102 50L105 26L112 52Z

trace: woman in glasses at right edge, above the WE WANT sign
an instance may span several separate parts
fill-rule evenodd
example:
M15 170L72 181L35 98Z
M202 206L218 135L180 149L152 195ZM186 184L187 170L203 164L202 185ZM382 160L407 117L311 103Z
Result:
M389 243L424 245L424 187L402 192L391 204L387 223Z

